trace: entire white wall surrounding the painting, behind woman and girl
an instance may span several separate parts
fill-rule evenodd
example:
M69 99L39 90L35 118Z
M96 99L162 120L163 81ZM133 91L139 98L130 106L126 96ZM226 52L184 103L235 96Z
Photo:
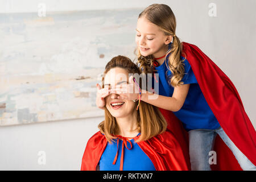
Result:
M47 11L144 8L166 3L177 18L176 35L196 44L229 76L255 125L256 52L255 0L226 1L0 1L0 13L36 12L39 2ZM208 15L216 3L217 16ZM0 14L1 16L1 14ZM1 55L0 55L1 56ZM0 169L77 170L89 137L103 118L0 127ZM38 152L46 164L38 164Z

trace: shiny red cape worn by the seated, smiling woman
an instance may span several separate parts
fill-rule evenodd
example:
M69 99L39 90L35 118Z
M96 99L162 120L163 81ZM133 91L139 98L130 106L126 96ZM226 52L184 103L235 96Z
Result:
M136 140L138 137L135 137L134 139ZM108 141L100 131L88 140L84 155L82 156L82 171L96 170L96 166L100 161L107 143ZM181 146L175 135L168 129L156 137L138 142L138 145L145 152L148 158L151 159L156 171L190 170L187 148L184 148L185 145Z

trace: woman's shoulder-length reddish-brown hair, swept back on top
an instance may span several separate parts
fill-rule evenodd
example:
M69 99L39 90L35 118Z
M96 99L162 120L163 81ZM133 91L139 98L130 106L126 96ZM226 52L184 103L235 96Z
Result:
M112 68L123 68L128 73L138 73L141 74L141 71L136 64L133 63L128 57L125 56L116 56L105 67L104 73L108 73ZM104 75L105 75L104 74ZM141 83L140 83L141 85ZM102 77L102 88L104 88L104 77ZM138 104L138 101L135 103ZM136 107L135 107L136 108ZM136 140L136 142L141 142L142 140L150 139L158 134L166 131L167 122L164 119L162 113L159 111L158 107L147 104L146 102L141 101L139 109L137 111L138 118L138 127L137 131L141 133L141 136ZM119 128L117 121L109 110L105 106L105 121L102 121L98 128L101 133L105 134L108 142L111 143L111 140L114 135L118 135Z

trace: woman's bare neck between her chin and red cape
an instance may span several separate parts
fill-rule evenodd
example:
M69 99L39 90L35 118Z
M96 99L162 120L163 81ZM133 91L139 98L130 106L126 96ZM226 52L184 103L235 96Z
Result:
M138 135L137 110L135 113L123 118L115 118L119 127L119 134L122 137L136 137Z

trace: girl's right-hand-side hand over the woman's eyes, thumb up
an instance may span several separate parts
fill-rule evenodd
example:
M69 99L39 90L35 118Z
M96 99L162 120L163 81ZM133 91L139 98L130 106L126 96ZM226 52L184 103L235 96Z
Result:
M119 94L120 100L138 100L139 87L133 81L133 76L129 77L129 84L116 85L110 93Z

